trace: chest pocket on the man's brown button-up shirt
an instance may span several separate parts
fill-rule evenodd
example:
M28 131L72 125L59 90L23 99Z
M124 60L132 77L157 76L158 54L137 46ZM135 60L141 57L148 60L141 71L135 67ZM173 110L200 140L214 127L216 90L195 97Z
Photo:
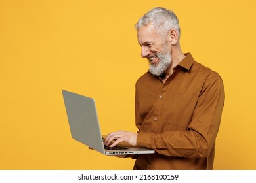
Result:
M190 93L171 93L163 105L164 131L186 130L196 107L196 96Z

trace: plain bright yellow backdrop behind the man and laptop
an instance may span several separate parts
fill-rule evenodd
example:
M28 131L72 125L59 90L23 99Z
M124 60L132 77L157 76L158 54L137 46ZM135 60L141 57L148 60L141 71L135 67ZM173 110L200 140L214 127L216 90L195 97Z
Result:
M61 91L96 99L102 133L136 131L148 63L133 25L157 6L179 17L183 52L224 80L214 169L256 169L253 0L0 0L0 169L132 169L72 139Z

